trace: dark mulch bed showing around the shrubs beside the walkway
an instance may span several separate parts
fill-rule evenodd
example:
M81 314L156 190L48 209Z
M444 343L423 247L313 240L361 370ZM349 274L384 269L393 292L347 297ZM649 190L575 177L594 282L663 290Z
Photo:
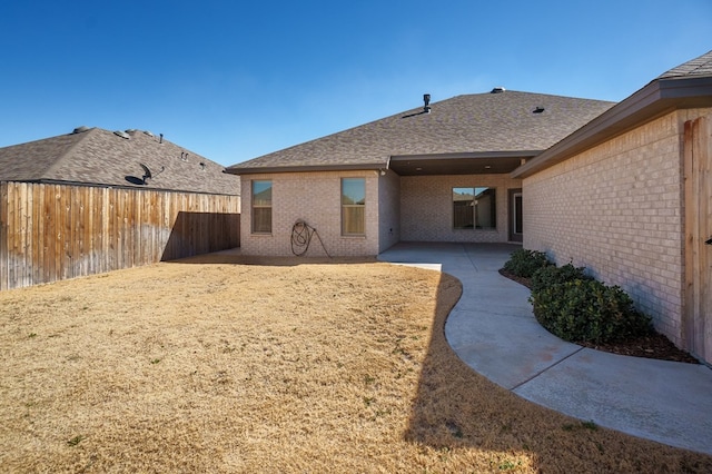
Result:
M517 282L527 288L532 287L528 278L512 275L504 269L500 274L506 278ZM627 355L633 357L655 358L660 361L684 362L688 364L700 364L700 361L692 357L690 353L680 349L666 336L654 332L651 335L637 337L631 340L607 344L592 344L586 342L575 342L580 346L591 347L612 354Z

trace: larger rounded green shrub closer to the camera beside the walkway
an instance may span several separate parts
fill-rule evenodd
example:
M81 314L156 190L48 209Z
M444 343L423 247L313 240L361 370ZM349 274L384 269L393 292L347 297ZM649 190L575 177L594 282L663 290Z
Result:
M534 315L542 326L568 342L612 343L651 332L650 318L617 286L574 279L532 293Z

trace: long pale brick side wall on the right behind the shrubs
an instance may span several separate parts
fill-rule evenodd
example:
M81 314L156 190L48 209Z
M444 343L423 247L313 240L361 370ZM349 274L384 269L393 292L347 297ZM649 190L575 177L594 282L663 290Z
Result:
M673 112L524 179L524 247L619 285L681 345L684 221Z

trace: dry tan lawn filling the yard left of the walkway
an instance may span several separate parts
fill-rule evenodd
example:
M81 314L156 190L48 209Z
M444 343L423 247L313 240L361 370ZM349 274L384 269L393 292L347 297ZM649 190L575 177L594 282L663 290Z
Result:
M0 471L712 472L473 373L443 335L454 278L337 263L214 255L0 294Z

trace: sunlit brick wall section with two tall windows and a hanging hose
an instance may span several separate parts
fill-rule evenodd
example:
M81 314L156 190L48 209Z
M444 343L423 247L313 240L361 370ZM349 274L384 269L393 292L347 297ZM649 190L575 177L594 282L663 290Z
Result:
M366 178L366 236L342 236L340 178ZM251 181L273 181L273 233L251 233ZM297 219L315 227L333 256L378 254L377 171L286 172L241 177L240 246L244 255L290 256L291 228ZM316 237L306 256L325 256Z

